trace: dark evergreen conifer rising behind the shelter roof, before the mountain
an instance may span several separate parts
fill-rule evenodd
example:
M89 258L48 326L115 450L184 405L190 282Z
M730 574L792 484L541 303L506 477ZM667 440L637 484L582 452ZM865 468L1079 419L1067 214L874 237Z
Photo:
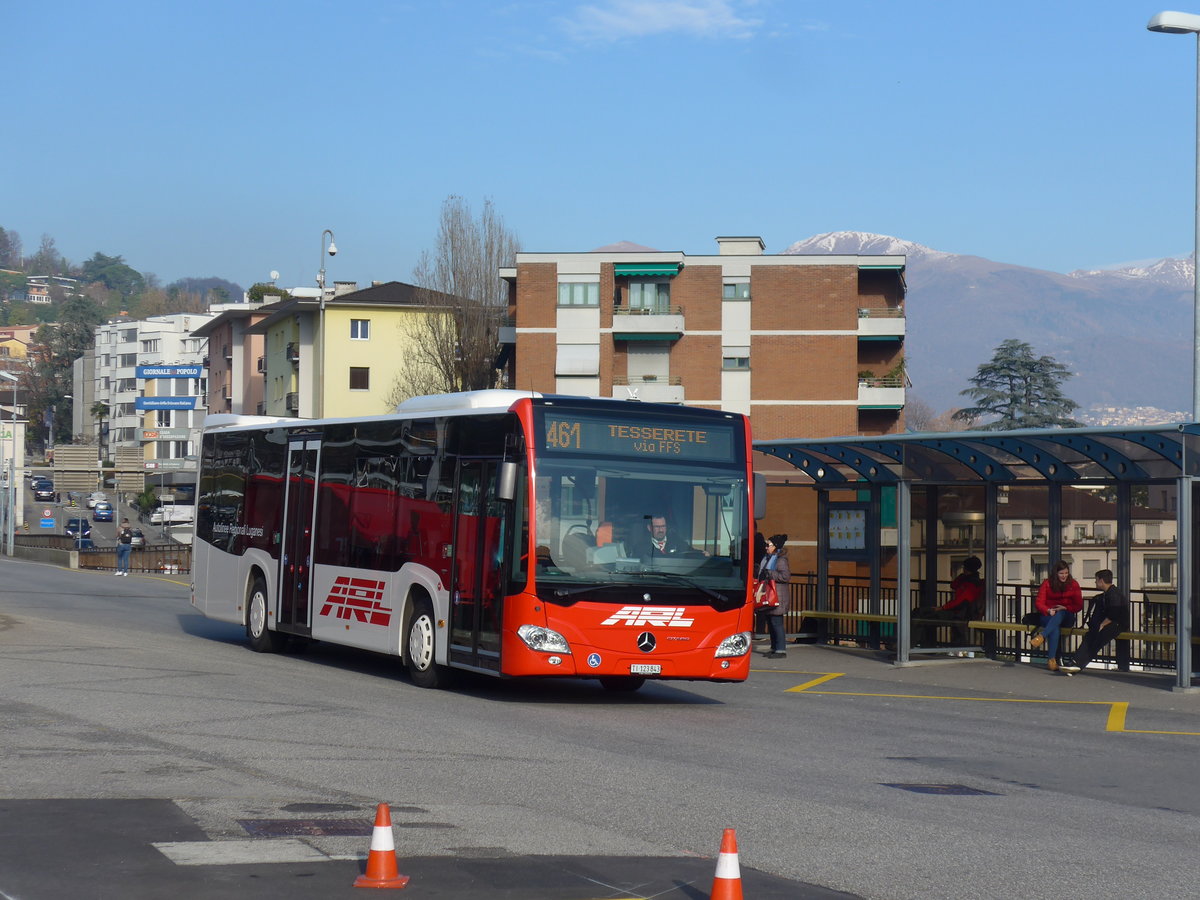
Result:
M954 419L973 431L1078 428L1079 422L1069 416L1079 403L1062 392L1068 378L1070 371L1064 365L1050 356L1034 356L1030 344L1009 338L996 348L990 362L979 366L970 379L973 386L959 391L974 406L958 410ZM995 419L976 425L990 416Z

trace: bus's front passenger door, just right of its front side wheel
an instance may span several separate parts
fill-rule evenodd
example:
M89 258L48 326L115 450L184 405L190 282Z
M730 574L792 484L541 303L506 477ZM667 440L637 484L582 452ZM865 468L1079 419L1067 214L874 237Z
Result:
M496 497L499 463L460 460L450 586L450 659L499 671L508 504Z

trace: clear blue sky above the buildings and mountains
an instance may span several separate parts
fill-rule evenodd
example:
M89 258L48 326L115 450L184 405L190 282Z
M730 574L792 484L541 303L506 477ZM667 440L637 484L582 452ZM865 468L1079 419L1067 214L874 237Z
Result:
M450 194L529 251L864 230L1056 271L1181 256L1196 47L1146 30L1162 8L11 4L0 226L244 287L313 283L325 228L330 281L408 280Z

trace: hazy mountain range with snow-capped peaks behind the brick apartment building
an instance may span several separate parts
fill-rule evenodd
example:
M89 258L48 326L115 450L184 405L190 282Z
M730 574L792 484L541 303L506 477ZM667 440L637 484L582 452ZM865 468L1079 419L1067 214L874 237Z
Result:
M907 257L907 368L936 412L964 406L967 379L1010 337L1069 366L1063 390L1084 408L1190 408L1190 259L1063 275L865 232L784 252Z

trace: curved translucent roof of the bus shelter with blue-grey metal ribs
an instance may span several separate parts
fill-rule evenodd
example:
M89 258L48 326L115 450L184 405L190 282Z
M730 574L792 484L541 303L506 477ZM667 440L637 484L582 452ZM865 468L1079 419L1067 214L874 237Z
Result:
M818 485L1153 481L1200 475L1200 425L756 440Z

